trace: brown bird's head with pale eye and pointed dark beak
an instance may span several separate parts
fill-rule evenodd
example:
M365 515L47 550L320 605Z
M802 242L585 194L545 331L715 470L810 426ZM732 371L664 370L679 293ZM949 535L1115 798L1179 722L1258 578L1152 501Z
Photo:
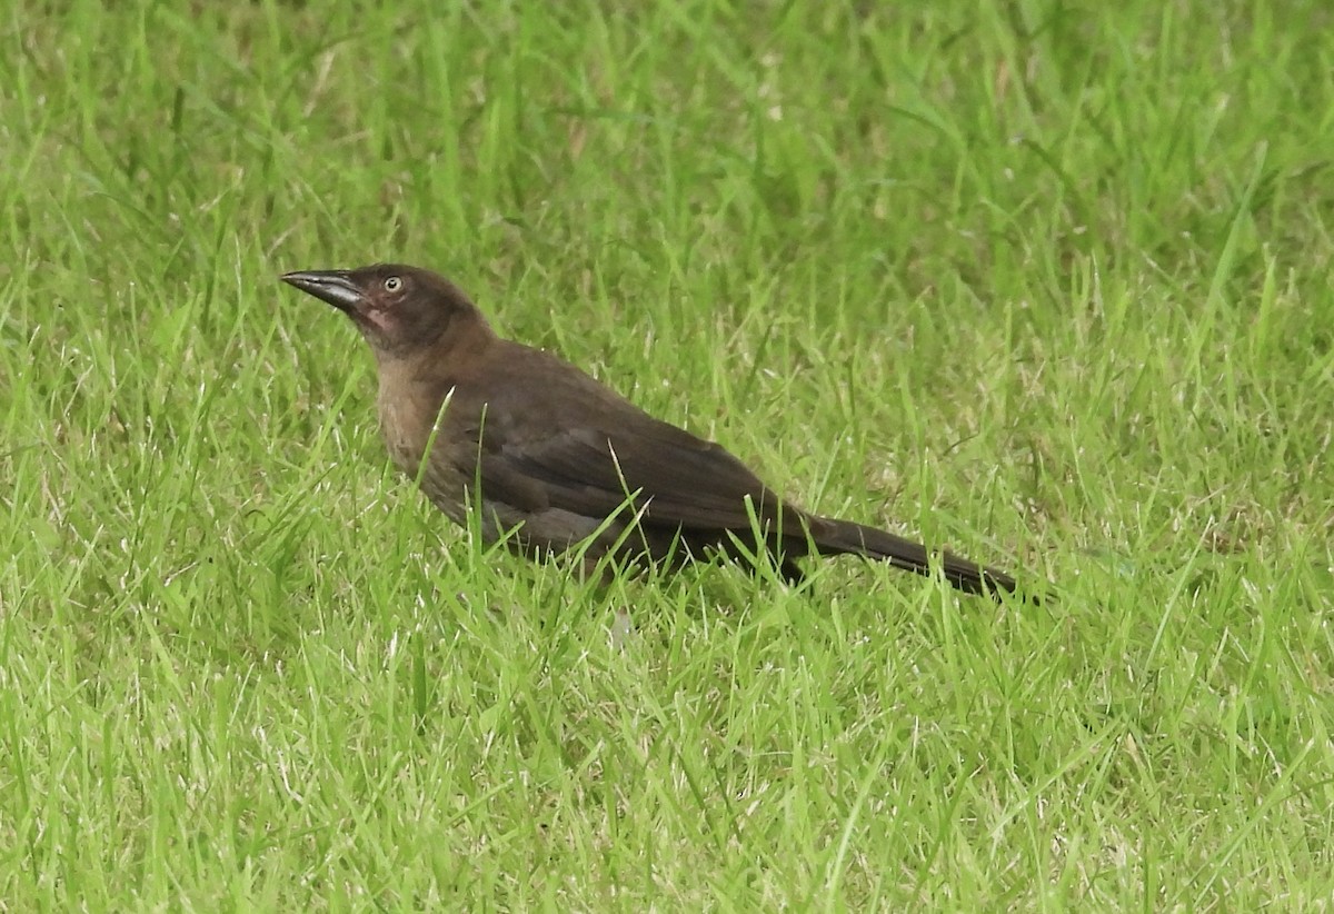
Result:
M351 318L380 358L432 347L446 332L462 327L486 327L468 296L430 270L378 263L291 272L283 282Z

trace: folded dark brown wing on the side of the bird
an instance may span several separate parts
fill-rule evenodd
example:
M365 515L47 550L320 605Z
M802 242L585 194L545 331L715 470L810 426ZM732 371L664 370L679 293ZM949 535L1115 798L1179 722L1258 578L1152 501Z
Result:
M592 518L634 498L646 523L714 530L748 527L750 496L762 520L782 514L784 526L800 528L800 515L720 446L644 414L618 418L540 438L483 435L482 491L526 510Z

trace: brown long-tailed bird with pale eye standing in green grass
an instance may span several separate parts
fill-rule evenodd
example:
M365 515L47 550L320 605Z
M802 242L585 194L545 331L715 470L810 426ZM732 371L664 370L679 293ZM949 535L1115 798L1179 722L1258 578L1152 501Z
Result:
M586 563L679 567L710 554L862 555L967 592L1014 579L884 530L807 514L720 446L654 419L556 356L500 339L450 280L376 264L283 280L343 311L379 367L380 430L394 463L456 523L480 504L488 542L528 556L586 544ZM756 548L758 546L758 548ZM752 566L754 567L754 566Z

